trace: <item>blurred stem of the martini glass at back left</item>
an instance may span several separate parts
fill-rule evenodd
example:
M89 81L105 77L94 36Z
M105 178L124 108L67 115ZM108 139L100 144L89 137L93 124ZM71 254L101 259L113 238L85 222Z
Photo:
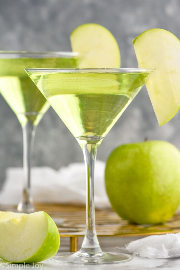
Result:
M23 191L21 201L18 204L18 211L24 213L34 212L33 199L31 196L31 161L33 152L33 143L36 126L28 121L25 126L22 126L23 131Z

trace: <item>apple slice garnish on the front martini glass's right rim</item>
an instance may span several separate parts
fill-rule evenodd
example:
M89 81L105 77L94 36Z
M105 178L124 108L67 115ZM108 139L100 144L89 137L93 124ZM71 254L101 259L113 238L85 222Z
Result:
M159 125L180 107L180 41L164 29L150 29L133 40L140 68L155 68L146 83Z

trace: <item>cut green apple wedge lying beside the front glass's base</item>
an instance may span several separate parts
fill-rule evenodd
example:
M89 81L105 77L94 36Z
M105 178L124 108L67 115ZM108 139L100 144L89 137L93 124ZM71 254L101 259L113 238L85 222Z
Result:
M60 244L55 222L44 211L0 222L0 257L8 262L40 262Z

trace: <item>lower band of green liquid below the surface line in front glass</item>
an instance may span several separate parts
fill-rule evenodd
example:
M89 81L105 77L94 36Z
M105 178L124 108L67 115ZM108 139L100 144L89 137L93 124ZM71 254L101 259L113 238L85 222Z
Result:
M49 103L74 137L104 137L124 111L130 98L125 95L55 95ZM118 113L119 112L119 113Z

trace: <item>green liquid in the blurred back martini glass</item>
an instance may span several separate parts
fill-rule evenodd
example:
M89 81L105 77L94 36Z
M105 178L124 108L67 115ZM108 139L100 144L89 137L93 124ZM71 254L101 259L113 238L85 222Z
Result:
M37 125L50 106L24 71L27 67L73 68L76 67L76 60L71 58L0 58L0 93L22 126L27 121Z

